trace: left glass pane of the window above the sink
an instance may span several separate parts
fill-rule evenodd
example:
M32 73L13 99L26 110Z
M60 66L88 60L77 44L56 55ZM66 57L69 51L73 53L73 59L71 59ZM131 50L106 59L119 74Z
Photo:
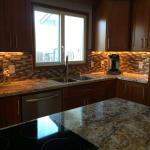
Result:
M58 63L60 54L60 17L58 14L34 11L36 63Z

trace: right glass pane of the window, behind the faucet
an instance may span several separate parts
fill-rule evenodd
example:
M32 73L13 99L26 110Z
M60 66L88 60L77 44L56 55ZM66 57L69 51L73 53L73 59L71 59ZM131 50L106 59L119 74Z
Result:
M69 61L84 61L84 21L83 17L65 15L65 56Z

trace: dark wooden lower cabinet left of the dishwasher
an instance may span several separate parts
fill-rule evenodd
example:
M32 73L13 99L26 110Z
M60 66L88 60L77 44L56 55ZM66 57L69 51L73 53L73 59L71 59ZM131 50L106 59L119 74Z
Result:
M0 98L0 128L21 121L20 96Z

